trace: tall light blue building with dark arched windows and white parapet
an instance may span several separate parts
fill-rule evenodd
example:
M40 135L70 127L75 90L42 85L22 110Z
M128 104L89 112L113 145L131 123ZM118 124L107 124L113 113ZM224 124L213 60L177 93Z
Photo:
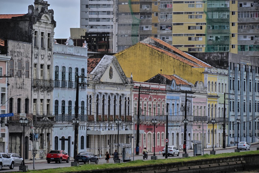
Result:
M53 57L53 127L52 149L64 150L70 157L74 155L74 125L71 120L75 117L76 79L75 76L87 76L87 43L83 47L74 46L70 37L66 45L54 44ZM86 102L87 78L79 78L78 118L78 153L86 151ZM61 139L61 140L60 140Z

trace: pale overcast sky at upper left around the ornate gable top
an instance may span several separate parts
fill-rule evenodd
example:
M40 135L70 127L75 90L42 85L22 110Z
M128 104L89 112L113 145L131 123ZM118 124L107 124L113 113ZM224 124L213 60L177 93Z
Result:
M0 14L27 14L34 0L0 0ZM54 10L54 38L68 38L70 28L80 27L80 0L48 0L48 9Z

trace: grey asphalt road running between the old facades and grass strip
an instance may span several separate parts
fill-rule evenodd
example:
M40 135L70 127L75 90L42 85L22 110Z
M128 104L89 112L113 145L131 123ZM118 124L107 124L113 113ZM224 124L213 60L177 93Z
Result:
M254 145L254 146L251 146L250 150L252 151L255 151L256 148L258 147L258 144L257 145ZM234 149L235 148L232 148L232 149L224 149L224 150L215 150L216 151L216 154L221 154L221 153L228 153L228 152L234 152ZM245 150L241 150L240 152L246 152ZM189 153L189 156L193 156L193 152L187 152ZM150 154L150 153L149 153ZM177 158L177 157L182 157L182 154L183 152L180 152L180 155L179 156L168 156L168 158ZM210 150L209 151L204 151L204 154L210 154ZM157 155L159 159L163 159L165 157L163 157L162 155ZM132 157L133 159L133 157ZM141 156L134 156L134 159L135 160L139 160L139 159L143 159L142 155ZM151 155L148 155L148 159L145 159L146 160L150 160L151 159ZM113 159L110 158L109 160L110 164L111 163L114 163L113 162ZM98 164L106 164L106 160L104 158L102 159L99 159L99 163ZM83 163L81 163L83 164ZM95 163L92 163L92 164L95 164ZM29 170L33 170L33 164L32 163L29 163L29 164L26 164L28 165L28 169ZM60 163L55 163L55 162L51 162L51 163L47 163L47 162L35 162L35 169L48 169L48 168L60 168L60 167L70 167L71 166L71 163L66 163L66 162L62 162L61 164ZM0 172L11 172L11 171L19 171L19 166L16 165L14 167L14 169L10 169L9 167L3 167L2 171Z

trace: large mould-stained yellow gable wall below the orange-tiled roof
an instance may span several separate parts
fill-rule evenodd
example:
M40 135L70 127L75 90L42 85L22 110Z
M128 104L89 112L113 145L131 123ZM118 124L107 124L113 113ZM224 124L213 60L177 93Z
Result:
M156 51L141 43L137 43L114 56L117 57L125 75L133 75L134 81L146 81L161 73L166 75L177 74L185 80L195 83L204 81L204 68L192 68L162 52Z

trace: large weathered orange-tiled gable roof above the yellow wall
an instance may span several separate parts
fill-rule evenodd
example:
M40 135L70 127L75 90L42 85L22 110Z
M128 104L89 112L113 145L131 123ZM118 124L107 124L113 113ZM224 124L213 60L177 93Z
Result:
M149 45L154 45L155 47L159 47L160 49L163 48L162 49L163 52L170 52L171 54L175 54L175 56L180 56L182 59L185 59L186 61L189 61L192 64L196 64L196 66L193 66L193 67L212 67L210 64L207 64L207 63L201 61L200 59L195 58L195 57L175 48L174 46L162 41L159 38L148 37L148 38L144 39L143 41L141 41L141 43L147 43Z

